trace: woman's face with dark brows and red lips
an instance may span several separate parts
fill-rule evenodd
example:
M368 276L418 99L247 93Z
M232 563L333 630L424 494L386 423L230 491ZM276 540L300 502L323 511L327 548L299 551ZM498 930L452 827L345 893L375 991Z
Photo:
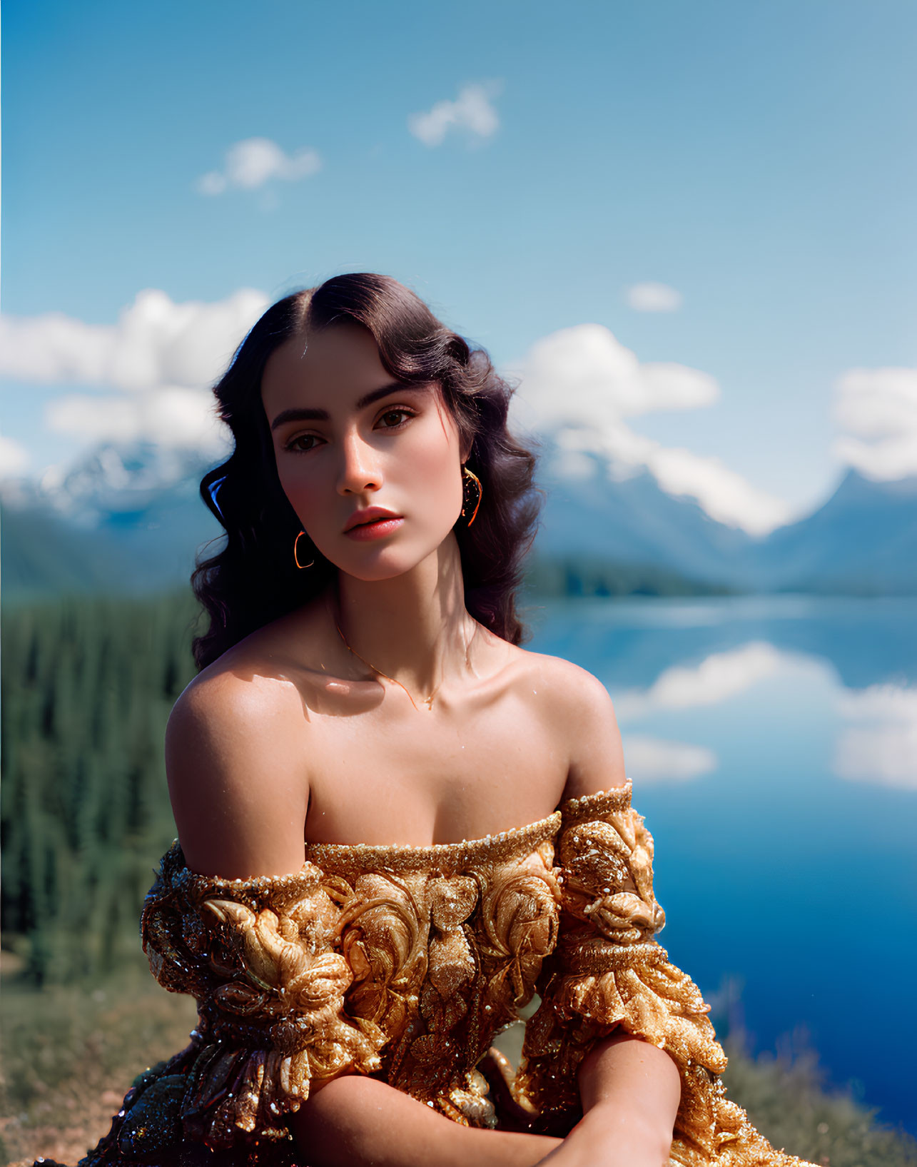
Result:
M391 579L449 534L462 508L455 419L438 385L393 380L368 329L332 324L286 341L267 361L261 399L284 492L341 571Z

